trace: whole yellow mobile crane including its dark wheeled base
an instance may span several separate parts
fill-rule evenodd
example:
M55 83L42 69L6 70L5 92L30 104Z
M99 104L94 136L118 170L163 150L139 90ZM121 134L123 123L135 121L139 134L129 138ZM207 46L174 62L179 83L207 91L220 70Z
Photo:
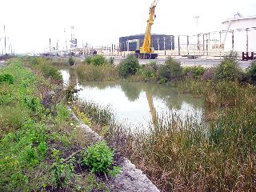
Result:
M150 14L149 14L149 19L147 20L144 42L142 47L140 47L139 50L135 51L135 55L138 58L146 58L146 59L158 58L158 54L154 54L154 47L151 47L151 26L154 23L154 18L156 18L156 15L154 14L154 10L158 4L158 1L159 0L154 0L154 2L152 2L150 6Z

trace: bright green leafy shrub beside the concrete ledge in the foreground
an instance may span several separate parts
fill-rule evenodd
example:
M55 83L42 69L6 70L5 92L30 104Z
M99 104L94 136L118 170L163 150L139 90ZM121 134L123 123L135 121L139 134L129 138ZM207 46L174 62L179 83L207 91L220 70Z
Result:
M106 142L98 142L88 147L84 154L83 163L93 173L105 173L114 162L114 151L110 150Z

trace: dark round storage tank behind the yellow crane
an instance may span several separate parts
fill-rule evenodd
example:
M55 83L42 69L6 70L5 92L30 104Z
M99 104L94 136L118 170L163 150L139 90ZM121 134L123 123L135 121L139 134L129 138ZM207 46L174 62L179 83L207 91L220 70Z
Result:
M142 46L144 34L131 35L119 38L121 51L135 51ZM174 50L174 35L151 34L151 46L154 50Z

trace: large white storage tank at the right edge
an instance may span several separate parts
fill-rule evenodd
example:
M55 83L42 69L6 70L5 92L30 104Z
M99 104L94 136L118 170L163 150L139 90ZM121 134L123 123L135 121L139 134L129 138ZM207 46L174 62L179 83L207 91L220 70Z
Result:
M222 22L227 31L224 35L224 51L256 53L256 16L230 18Z

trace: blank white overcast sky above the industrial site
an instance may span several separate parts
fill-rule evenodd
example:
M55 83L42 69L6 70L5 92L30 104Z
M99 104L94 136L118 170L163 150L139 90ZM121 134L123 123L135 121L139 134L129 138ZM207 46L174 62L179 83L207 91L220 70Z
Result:
M64 46L74 26L78 46L117 43L118 38L142 34L153 0L2 0L0 38L10 37L16 53L43 51L49 38ZM221 22L236 12L256 15L255 0L159 0L152 26L154 34L191 34L221 30ZM194 16L198 18L197 22ZM66 29L66 33L64 33ZM0 41L2 53L3 39Z

